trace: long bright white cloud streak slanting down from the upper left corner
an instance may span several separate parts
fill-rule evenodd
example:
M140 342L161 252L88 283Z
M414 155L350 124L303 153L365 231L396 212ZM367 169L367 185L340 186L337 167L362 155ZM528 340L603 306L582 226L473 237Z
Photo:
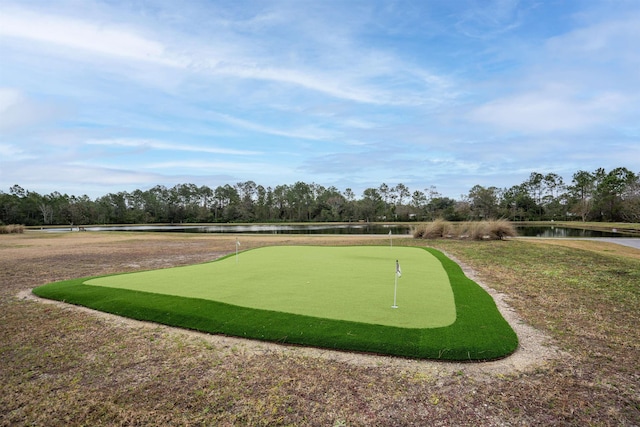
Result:
M177 37L178 40L169 44L161 42L160 35L154 36L154 33L154 30L138 30L131 24L58 16L55 13L17 7L7 8L0 14L0 36L3 37L26 39L115 60L134 60L209 76L274 82L359 103L416 105L426 100L430 102L433 93L441 92L444 87L444 77L419 70L409 64L403 65L400 58L390 57L383 52L359 52L353 48L342 53L350 62L360 62L358 71L352 67L340 66L338 63L333 63L330 69L326 69L330 52L324 52L322 56L325 58L315 64L292 63L282 66L273 58L265 58L262 54L256 55L256 52L252 52L247 46L251 43L248 40L235 38L231 42L235 44L227 46L228 40L223 42L219 39L218 42L226 47L220 48L216 45L213 49L210 43L193 40L186 34L174 33L173 37ZM188 48L182 48L183 45ZM276 54L277 56L280 55ZM73 60L92 61L82 56L75 56ZM157 72L154 71L154 74ZM397 88L393 91L386 90L379 84L368 82L370 79L383 78L392 80L393 84L393 81L397 81L398 77L403 75L405 78L423 82L423 87L418 91L414 87L402 93L398 92Z

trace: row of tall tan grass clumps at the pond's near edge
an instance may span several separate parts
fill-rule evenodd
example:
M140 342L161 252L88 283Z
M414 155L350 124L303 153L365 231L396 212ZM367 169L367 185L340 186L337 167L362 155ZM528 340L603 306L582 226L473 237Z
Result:
M413 229L416 239L504 240L518 233L505 219L452 223L443 219L419 224Z

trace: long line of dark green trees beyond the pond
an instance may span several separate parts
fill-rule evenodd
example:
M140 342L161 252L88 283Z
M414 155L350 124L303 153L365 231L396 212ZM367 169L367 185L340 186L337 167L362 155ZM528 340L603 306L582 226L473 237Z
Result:
M310 221L449 221L505 218L513 221L581 220L640 222L640 173L578 171L570 183L555 173L533 172L511 188L476 185L458 200L435 187L404 184L347 188L315 183L264 187L253 181L216 188L178 184L109 193L95 200L54 192L38 194L14 185L0 191L0 224L81 225Z

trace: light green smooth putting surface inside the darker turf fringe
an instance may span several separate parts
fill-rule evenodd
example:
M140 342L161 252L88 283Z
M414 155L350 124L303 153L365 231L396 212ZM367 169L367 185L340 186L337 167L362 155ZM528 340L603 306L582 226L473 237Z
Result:
M402 270L397 279L396 260ZM447 272L429 252L411 247L275 246L84 283L404 328L456 320ZM392 308L394 293L398 308Z

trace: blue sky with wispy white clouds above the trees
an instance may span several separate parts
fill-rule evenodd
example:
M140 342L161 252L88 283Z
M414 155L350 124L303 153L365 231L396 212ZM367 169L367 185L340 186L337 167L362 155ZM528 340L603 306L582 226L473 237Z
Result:
M640 2L0 0L0 190L640 172Z

